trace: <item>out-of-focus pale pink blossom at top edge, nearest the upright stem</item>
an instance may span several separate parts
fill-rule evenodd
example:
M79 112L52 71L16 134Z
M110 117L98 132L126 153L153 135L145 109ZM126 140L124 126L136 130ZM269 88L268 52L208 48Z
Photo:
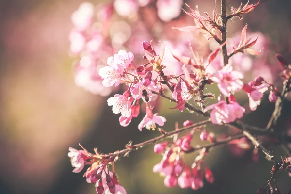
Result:
M180 15L182 5L183 0L158 0L158 16L162 21L171 21Z

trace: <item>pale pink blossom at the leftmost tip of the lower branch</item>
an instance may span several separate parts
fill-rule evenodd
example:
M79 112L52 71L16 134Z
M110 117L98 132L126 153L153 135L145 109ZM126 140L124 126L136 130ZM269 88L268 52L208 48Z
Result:
M72 166L75 167L73 172L80 173L85 166L85 161L88 159L83 150L77 150L73 147L69 148L68 157L71 158Z

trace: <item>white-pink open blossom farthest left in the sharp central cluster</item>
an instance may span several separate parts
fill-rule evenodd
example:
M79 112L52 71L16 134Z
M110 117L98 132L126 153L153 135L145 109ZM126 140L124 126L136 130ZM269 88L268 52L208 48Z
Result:
M123 76L123 67L113 57L107 59L107 65L99 69L99 75L104 78L102 84L105 87L118 86Z

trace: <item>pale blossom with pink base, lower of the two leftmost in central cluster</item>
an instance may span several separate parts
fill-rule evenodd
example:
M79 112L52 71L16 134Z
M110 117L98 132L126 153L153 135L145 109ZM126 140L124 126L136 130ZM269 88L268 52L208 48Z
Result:
M128 100L129 91L127 90L123 95L115 94L107 100L108 106L112 106L114 114L119 114L123 117L129 118L131 116L130 101Z

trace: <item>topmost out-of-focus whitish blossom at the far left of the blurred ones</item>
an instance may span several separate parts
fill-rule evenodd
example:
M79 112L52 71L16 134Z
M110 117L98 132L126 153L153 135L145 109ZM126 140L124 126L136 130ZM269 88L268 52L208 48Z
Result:
M83 2L71 15L75 28L79 31L86 30L92 25L94 17L94 5L90 2Z

